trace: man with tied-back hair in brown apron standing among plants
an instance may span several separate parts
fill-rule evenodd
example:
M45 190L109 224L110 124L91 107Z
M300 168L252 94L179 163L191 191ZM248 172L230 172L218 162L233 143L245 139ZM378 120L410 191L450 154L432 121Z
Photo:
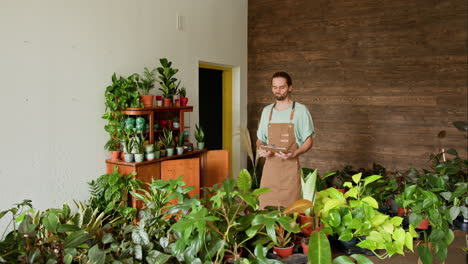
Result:
M307 107L292 101L292 89L288 73L273 74L271 90L276 102L263 109L257 130L258 152L266 158L260 187L272 190L260 196L262 208L287 207L301 199L299 156L312 147L315 131Z

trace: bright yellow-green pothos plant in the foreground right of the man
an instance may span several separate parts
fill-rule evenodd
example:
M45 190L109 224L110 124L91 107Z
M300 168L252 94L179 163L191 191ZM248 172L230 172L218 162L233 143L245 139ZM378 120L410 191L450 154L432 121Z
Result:
M377 201L365 195L366 186L382 176L371 175L365 179L361 176L361 173L355 174L352 182L343 184L349 188L345 194L334 188L317 194L314 211L325 224L322 230L337 234L342 241L365 237L357 246L373 251L382 259L395 253L404 255L404 248L412 251L413 237L416 236L414 228L410 226L409 231L405 231L403 218L380 213ZM377 249L384 250L384 253L378 254Z

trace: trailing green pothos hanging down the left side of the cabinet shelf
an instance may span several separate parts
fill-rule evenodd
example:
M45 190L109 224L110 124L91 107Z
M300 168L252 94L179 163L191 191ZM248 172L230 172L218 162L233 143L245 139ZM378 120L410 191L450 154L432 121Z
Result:
M112 84L107 86L104 93L106 98L106 112L102 118L107 120L104 130L109 134L109 140L104 145L107 150L117 150L122 140L123 115L122 111L128 107L143 107L138 92L137 74L128 78L116 74L112 75Z

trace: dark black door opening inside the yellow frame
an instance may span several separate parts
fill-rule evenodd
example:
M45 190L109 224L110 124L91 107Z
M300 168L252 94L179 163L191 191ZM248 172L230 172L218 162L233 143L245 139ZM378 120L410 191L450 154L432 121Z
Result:
M205 132L205 148L223 149L223 71L199 68L199 125Z

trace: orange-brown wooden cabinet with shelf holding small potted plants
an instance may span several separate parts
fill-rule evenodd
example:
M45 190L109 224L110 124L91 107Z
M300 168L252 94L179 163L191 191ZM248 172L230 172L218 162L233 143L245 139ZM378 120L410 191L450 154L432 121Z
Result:
M184 114L192 111L192 106L129 108L123 111L123 114L146 116L149 123L148 140L150 143L154 143L158 134L162 132L161 129L154 129L155 122L170 115L178 116L180 127L172 130L181 135L184 129L187 128L184 125ZM122 174L137 173L136 178L147 183L153 179L176 179L182 175L182 179L187 186L195 187L189 194L200 196L202 195L200 192L201 187L210 187L215 183L221 183L227 177L229 173L229 152L227 150L207 151L206 149L194 149L181 155L138 163L106 160L107 173L112 173L115 166ZM136 208L142 206L141 201L136 200L132 201L132 205Z

